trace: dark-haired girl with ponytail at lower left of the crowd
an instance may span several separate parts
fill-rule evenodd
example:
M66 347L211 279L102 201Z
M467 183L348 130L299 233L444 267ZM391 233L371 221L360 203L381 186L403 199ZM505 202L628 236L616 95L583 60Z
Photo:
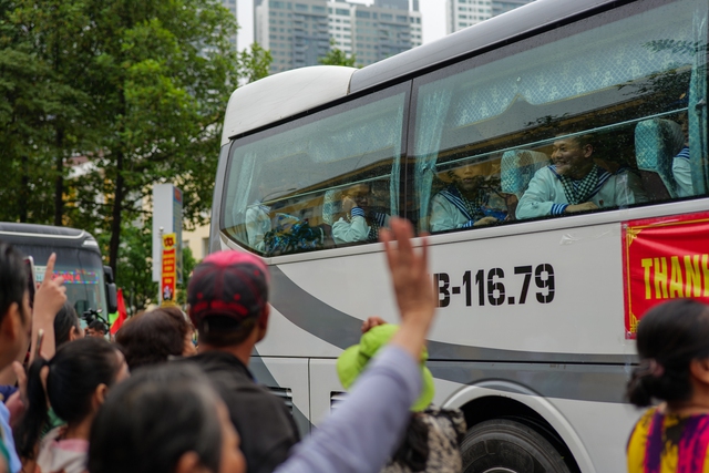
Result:
M28 374L29 407L14 429L24 471L85 471L89 432L109 389L129 377L121 351L105 340L83 338L65 343L47 361L34 360ZM49 404L65 425L40 439Z

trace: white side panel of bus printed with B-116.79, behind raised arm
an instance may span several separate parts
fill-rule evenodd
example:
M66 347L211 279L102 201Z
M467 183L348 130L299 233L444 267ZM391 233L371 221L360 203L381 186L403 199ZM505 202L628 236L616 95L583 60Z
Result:
M583 218L567 222L578 225ZM430 358L631 361L635 347L625 338L623 312L620 225L432 236L430 267L441 307ZM337 357L358 342L367 317L398 320L380 251L271 266L271 277L275 310L269 337L259 345L261 354Z

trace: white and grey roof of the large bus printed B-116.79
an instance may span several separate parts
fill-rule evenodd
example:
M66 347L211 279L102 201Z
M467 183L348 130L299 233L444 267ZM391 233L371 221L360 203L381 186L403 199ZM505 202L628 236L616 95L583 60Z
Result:
M536 0L499 17L404 51L362 69L316 65L285 71L232 94L222 146L230 137L307 112L351 93L409 79L415 73L510 42L594 10L614 0Z

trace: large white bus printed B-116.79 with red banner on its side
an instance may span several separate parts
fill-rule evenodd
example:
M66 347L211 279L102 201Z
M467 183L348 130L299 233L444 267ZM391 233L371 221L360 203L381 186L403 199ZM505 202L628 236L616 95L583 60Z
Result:
M709 295L707 249L690 255L685 290L681 255L629 246L709 220L708 11L537 0L360 70L305 68L234 92L210 250L269 265L270 329L251 367L304 431L342 394L336 358L362 320L395 321L376 237L397 215L431 233L428 364L435 403L465 412L464 471L625 471L639 307ZM565 146L592 177L564 177ZM680 247L705 241L679 233L695 237ZM637 273L634 258L656 264Z

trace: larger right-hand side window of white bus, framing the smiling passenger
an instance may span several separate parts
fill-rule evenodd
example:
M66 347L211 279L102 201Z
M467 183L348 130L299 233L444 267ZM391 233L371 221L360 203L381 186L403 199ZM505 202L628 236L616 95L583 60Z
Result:
M625 12L414 80L420 230L706 195L706 0Z

